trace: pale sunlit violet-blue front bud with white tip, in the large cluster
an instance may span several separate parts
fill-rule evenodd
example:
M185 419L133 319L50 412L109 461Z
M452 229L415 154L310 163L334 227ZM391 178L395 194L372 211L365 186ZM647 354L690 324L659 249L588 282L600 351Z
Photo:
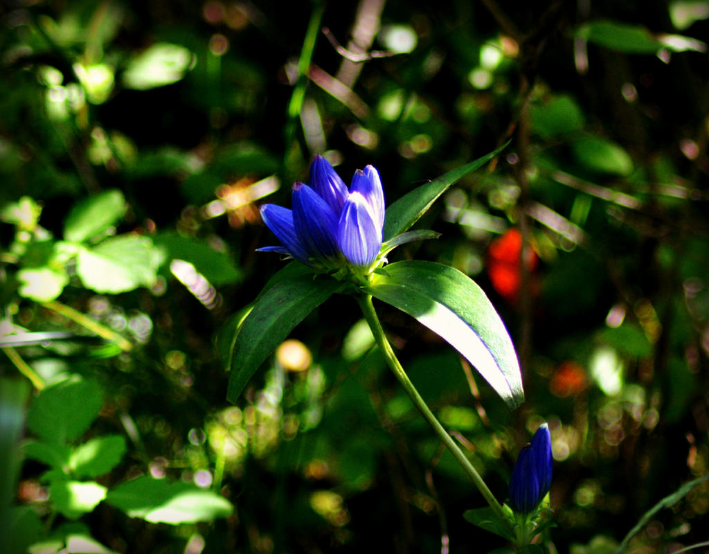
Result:
M376 226L371 210L359 192L350 193L342 209L337 242L354 265L371 265L381 248L381 227Z

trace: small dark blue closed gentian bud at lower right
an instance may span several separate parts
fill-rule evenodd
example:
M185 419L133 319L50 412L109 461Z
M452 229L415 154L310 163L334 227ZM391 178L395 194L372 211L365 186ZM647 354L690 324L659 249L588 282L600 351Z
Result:
M542 423L532 442L525 445L510 476L510 506L518 514L529 514L549 492L552 484L552 436Z

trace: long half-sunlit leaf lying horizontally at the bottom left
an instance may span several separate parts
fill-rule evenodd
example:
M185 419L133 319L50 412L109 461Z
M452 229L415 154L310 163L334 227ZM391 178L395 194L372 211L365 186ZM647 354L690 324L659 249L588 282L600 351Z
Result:
M195 523L228 517L234 506L194 484L138 477L108 492L106 502L151 523Z

